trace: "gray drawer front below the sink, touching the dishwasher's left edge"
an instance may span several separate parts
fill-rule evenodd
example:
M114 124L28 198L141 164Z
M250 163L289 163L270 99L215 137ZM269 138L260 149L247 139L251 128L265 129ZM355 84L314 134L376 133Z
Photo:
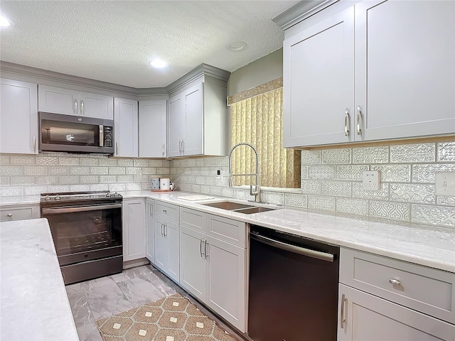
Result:
M207 215L207 234L239 247L246 245L245 222L237 222L218 215Z

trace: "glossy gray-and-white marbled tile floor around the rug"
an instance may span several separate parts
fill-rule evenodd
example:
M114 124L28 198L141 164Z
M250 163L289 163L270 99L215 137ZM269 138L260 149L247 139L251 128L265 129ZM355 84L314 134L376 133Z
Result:
M96 322L139 305L180 293L198 305L210 318L218 320L193 300L186 291L151 265L127 269L122 274L92 279L66 286L80 341L102 341ZM218 321L220 322L220 321ZM220 323L231 334L230 328ZM237 335L239 337L239 335ZM239 340L242 340L239 337Z

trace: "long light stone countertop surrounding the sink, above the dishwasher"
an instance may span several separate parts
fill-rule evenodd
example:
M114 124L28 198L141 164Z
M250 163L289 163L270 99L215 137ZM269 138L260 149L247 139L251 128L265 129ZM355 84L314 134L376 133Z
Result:
M157 193L142 190L120 192L120 194L123 195L124 199L149 197L222 217L289 232L301 237L316 239L328 244L367 251L455 273L455 229L449 227L431 227L412 223L365 219L364 217L349 217L296 207L283 207L279 210L244 215L201 205L207 202L228 200L226 197L191 202L178 199L178 197L195 195L195 193ZM214 197L213 195L208 196ZM245 202L245 200L232 201ZM255 205L253 202L245 203Z

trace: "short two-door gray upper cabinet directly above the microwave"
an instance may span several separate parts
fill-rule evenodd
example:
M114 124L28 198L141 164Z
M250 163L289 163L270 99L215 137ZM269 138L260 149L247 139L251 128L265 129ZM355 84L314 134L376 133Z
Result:
M38 111L114 119L114 97L39 85Z

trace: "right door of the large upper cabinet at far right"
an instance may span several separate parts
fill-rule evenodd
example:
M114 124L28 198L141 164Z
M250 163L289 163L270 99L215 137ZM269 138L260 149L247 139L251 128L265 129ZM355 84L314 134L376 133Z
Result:
M454 60L454 1L355 5L361 139L454 133Z

